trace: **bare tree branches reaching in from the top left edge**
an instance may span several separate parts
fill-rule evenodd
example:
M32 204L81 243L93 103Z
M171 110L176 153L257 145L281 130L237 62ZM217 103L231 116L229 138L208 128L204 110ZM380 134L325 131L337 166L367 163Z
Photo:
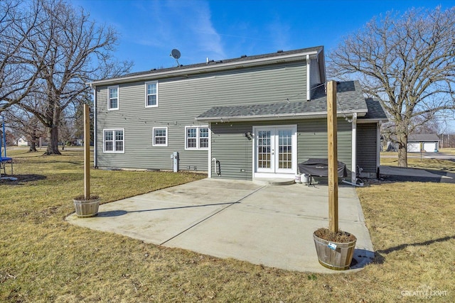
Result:
M38 79L43 62L26 51L26 44L41 26L41 10L40 3L24 9L22 1L0 1L0 113L26 97Z

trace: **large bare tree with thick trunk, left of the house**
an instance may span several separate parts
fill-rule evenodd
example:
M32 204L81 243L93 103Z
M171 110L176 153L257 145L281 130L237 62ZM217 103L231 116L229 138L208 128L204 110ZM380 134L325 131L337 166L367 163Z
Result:
M85 84L105 75L112 67L112 50L117 41L113 28L97 26L82 8L62 0L35 0L43 9L38 13L37 34L28 38L28 51L36 58L32 64L40 69L36 94L43 102L41 110L23 103L48 131L47 154L60 154L58 126L68 105L84 102ZM48 49L48 45L50 45ZM43 62L43 63L41 63ZM116 65L115 72L128 72L130 62Z

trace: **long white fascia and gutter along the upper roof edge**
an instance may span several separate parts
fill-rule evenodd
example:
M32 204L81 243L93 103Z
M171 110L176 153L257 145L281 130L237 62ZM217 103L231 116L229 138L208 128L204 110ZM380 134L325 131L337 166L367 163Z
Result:
M89 85L110 85L110 84L117 84L123 82L133 82L133 81L140 81L146 79L161 79L165 77L178 77L178 76L186 76L191 74L198 74L202 72L216 72L220 70L228 70L232 68L242 68L242 67L253 67L258 65L264 64L273 64L279 62L292 62L297 60L305 60L306 55L314 56L317 55L318 51L312 51L308 53L296 53L291 55L282 55L276 57L267 57L267 58L259 58L253 60L245 60L245 61L236 61L236 62L229 62L229 63L214 63L211 62L208 65L199 66L199 67L191 67L191 68L184 68L182 70L169 70L165 72L150 72L144 75L135 75L129 77L119 77L115 79L105 79L87 83Z

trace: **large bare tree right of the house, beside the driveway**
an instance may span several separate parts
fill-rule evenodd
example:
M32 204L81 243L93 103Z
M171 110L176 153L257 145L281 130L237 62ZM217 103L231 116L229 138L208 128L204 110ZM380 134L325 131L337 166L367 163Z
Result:
M390 115L402 167L408 134L455 109L455 7L373 18L328 57L333 77L360 79L365 94Z

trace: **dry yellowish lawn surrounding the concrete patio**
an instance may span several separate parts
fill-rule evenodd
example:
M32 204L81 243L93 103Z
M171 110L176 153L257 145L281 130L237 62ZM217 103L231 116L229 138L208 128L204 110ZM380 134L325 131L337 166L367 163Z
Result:
M82 152L14 157L29 177L0 183L0 302L422 302L402 294L424 285L446 291L434 302L455 300L453 184L359 188L378 257L360 272L321 275L72 226L64 218L82 191ZM93 170L92 191L109 202L200 177Z

